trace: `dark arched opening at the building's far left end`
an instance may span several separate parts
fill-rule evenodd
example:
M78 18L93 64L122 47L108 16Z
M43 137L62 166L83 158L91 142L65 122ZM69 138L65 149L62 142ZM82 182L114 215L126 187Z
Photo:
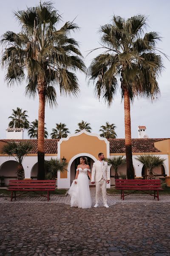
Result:
M5 185L8 185L9 180L17 179L17 166L18 162L9 160L0 166L0 176L5 177Z

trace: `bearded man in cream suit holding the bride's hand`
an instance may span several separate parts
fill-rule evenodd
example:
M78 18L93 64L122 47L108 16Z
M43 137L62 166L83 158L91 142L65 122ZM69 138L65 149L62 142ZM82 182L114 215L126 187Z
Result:
M102 189L103 204L108 208L106 197L106 183L110 182L108 163L104 161L104 154L99 153L99 160L93 164L91 172L91 184L96 182L96 204L94 208L99 206L99 194Z

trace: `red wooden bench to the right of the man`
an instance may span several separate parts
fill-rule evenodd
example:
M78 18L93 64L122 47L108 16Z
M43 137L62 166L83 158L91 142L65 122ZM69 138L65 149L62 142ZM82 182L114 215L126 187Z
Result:
M121 199L124 200L124 197L126 195L130 195L135 193L136 191L140 190L148 195L153 195L154 199L158 198L159 201L159 190L161 189L161 180L115 180L116 189L121 190ZM134 190L131 193L124 194L124 190ZM150 191L150 192L147 192ZM154 191L154 194L152 194L152 191ZM157 195L156 195L157 191Z

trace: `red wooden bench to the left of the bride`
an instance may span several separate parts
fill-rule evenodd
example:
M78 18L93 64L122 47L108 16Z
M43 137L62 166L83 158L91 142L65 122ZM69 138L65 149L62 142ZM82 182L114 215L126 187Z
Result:
M42 193L38 193L41 191L47 191L47 195L42 195L50 200L50 191L54 191L56 189L56 180L9 180L8 190L11 191L11 201L14 198L16 200L16 191L23 191L24 193L20 195L24 195L30 191L36 192L38 195L42 195ZM13 196L14 192L14 196ZM20 196L17 195L17 196Z

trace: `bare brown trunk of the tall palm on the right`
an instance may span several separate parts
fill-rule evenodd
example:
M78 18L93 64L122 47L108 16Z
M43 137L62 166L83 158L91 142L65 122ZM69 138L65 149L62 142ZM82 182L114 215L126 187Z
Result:
M126 150L127 179L134 179L133 162L132 162L130 97L129 97L129 92L126 89L124 89L124 110L125 110L125 150Z

